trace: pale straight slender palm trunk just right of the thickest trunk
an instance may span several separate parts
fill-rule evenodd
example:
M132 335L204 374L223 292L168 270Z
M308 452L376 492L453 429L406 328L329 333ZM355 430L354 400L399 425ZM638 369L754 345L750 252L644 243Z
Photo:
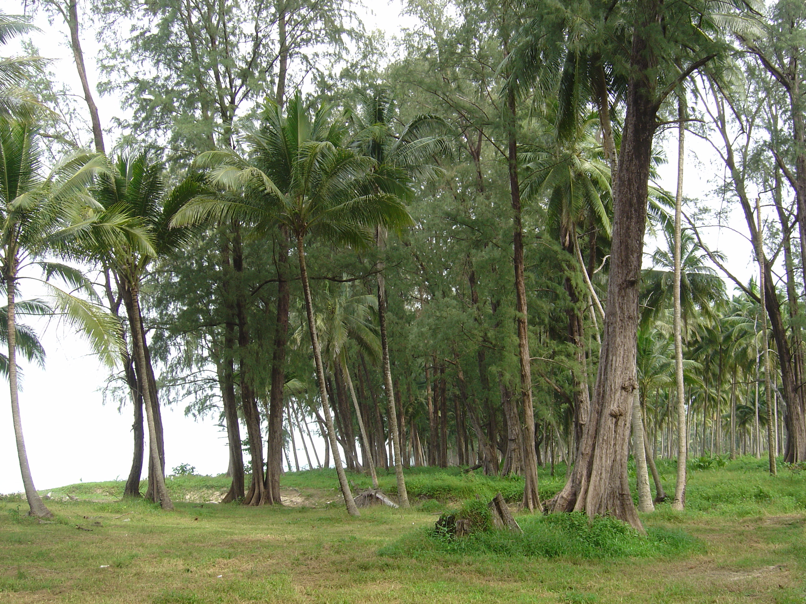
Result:
M675 485L675 499L671 502L673 510L683 510L686 505L686 456L688 454L688 430L686 429L686 401L683 391L683 332L680 320L680 214L683 204L683 163L685 161L686 145L683 133L685 125L683 118L685 110L683 101L677 105L677 115L680 120L677 139L677 195L675 196L675 319L673 331L675 333L675 379L677 383L677 483Z

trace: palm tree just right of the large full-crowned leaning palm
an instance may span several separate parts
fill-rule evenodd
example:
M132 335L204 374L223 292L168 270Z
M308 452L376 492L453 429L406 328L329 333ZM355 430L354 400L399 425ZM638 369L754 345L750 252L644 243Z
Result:
M435 165L435 160L450 155L449 140L444 136L447 124L434 115L418 115L406 123L400 132L396 132L393 124L397 115L388 89L371 89L359 96L359 105L349 114L353 128L349 147L359 155L375 161L373 172L376 176L376 192L383 191L407 199L412 194L409 184L415 178L429 178L442 172ZM376 230L376 242L380 254L384 254L386 233L382 226ZM376 263L381 364L388 403L389 429L392 432L397 497L401 507L409 507L409 495L403 476L400 433L397 428L392 368L389 363L383 269L384 261L381 258Z

